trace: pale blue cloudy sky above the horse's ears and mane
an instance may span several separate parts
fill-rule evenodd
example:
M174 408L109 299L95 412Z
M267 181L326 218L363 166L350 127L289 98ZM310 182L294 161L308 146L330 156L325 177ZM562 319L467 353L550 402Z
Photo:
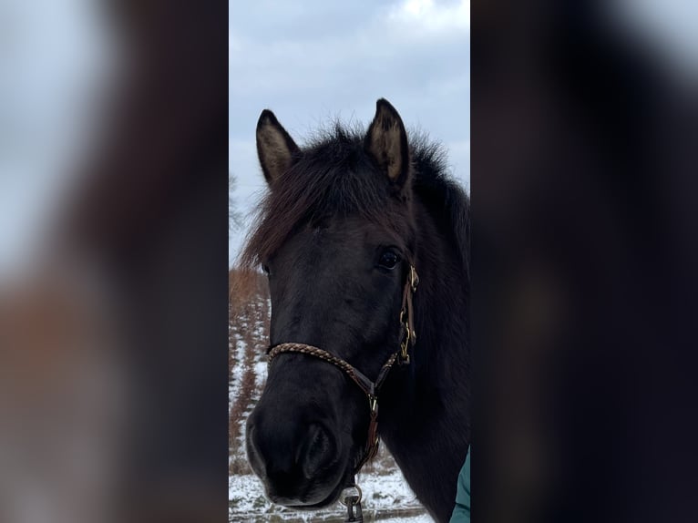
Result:
M408 129L447 147L469 190L469 0L231 0L228 46L231 197L243 215L265 189L254 144L263 108L302 145L333 118L366 126L385 97ZM230 262L245 232L231 231Z

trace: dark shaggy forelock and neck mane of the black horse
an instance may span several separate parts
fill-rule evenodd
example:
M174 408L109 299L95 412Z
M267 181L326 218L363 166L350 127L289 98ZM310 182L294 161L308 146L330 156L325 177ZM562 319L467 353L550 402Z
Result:
M391 191L375 176L374 160L364 149L364 128L335 122L302 149L291 169L262 199L240 265L258 266L304 223L359 214L366 220L400 230L401 217L386 205ZM447 173L445 149L419 130L411 130L413 191L457 247L468 272L469 198Z

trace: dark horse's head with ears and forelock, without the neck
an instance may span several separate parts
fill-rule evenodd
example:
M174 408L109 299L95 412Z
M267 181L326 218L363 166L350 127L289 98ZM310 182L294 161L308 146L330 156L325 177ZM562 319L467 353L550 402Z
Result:
M401 118L381 99L365 133L337 126L302 149L265 110L257 149L269 193L243 257L269 277L271 345L322 348L375 380L400 344L415 246ZM251 466L272 501L334 502L364 458L369 415L366 395L337 366L274 358L247 425Z

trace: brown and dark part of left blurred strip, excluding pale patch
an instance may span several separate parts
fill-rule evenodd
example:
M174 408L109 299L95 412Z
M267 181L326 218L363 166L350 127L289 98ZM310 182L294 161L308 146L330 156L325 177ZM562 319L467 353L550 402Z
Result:
M100 139L0 282L0 520L224 520L228 5L99 5Z

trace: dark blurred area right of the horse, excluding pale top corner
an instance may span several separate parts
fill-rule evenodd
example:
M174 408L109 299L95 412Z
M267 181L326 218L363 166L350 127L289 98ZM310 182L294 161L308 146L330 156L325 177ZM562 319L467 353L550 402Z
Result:
M472 5L477 521L698 520L696 85L618 5Z

